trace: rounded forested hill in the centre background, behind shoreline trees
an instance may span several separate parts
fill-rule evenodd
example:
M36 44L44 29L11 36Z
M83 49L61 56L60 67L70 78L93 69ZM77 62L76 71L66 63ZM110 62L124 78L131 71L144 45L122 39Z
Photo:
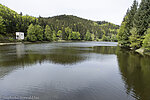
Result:
M71 28L73 31L79 32L81 34L81 39L84 38L87 30L90 33L95 34L99 39L102 38L103 34L106 36L111 36L112 34L117 34L119 25L115 25L105 21L92 21L83 19L73 15L60 15L48 18L39 18L41 25L50 25L54 30L63 30L66 27Z

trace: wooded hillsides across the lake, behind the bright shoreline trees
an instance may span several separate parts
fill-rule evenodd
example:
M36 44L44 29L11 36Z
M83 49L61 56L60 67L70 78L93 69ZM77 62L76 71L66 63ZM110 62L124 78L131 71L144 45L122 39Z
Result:
M93 35L94 39L110 40L112 37L116 37L119 29L118 25L109 22L96 22L73 15L60 15L47 18L23 16L22 13L18 14L2 4L0 4L0 22L0 37L15 36L16 31L24 32L25 36L27 36L27 29L30 24L40 25L43 30L45 30L46 25L49 25L55 34L61 30L62 35L66 35L65 29L68 28L71 29L71 32L79 32L80 39L82 40L85 39L86 33Z

